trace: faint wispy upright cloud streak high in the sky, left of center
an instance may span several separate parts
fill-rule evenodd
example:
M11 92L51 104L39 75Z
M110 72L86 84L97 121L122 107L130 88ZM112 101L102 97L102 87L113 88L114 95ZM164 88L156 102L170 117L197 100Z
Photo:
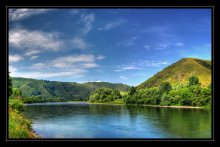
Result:
M93 13L90 14L81 14L81 22L84 23L84 27L82 29L81 35L86 35L92 28L92 24L95 21L95 15Z

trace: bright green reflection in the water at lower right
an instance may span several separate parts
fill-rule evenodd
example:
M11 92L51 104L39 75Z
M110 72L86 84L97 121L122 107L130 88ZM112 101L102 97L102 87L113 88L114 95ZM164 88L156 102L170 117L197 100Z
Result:
M171 109L160 111L165 131L180 137L211 137L211 112L201 109Z

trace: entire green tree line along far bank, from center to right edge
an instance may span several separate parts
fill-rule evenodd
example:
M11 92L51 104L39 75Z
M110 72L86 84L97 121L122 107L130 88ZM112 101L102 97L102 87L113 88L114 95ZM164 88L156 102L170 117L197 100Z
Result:
M172 86L169 82L163 82L158 87L141 90L131 87L123 96L117 90L101 88L89 96L90 102L105 103L116 100L126 104L210 106L211 83L208 87L202 87L199 78L191 76L187 84Z

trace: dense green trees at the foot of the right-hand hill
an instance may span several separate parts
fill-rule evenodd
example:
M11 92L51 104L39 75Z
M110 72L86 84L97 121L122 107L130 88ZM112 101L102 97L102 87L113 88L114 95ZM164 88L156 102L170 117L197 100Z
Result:
M134 91L133 88L130 91ZM198 77L191 76L185 85L172 87L169 82L164 82L159 87L129 92L124 99L127 104L210 106L211 88L201 87Z

